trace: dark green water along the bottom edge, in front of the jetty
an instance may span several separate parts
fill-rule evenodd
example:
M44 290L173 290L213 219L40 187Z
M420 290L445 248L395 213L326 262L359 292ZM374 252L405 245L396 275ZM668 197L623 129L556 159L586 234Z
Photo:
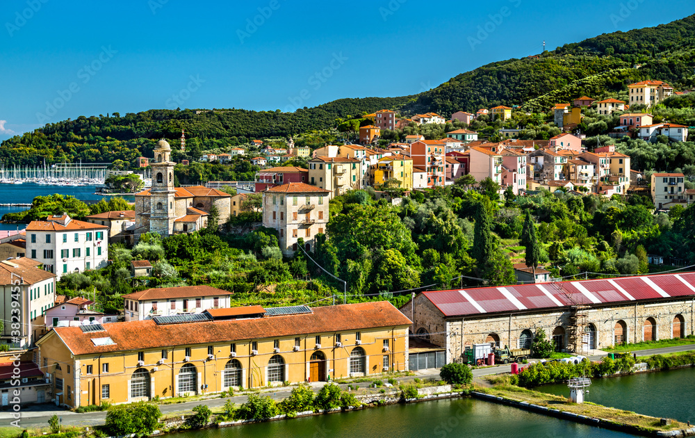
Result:
M630 436L471 398L375 407L170 435L172 438Z

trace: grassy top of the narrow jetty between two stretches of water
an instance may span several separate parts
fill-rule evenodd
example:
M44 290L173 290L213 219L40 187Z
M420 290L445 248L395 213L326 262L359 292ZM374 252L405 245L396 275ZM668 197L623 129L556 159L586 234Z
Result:
M629 424L644 430L680 430L686 427L685 424L676 420L671 421L671 425L662 426L660 425L660 419L653 416L595 405L594 403L578 405L576 403L569 403L564 397L544 394L542 392L532 391L531 389L514 387L509 384L500 384L492 388L478 388L478 391L497 397L508 398L510 400L525 401L550 409L558 409L559 411L573 412L574 414L604 419L615 423Z

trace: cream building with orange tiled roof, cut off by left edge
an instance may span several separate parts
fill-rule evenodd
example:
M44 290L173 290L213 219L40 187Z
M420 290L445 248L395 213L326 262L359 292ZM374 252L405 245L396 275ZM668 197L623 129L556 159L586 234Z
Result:
M1 343L17 348L33 345L42 333L45 311L56 300L56 275L43 270L40 262L26 257L3 260L0 288L0 318L5 322ZM13 336L17 330L13 323L19 323L19 336Z

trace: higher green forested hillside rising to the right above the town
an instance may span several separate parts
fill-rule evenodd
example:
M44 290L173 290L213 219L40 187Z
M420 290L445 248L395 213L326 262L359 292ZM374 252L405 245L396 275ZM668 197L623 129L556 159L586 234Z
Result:
M695 86L694 49L695 15L691 15L656 27L605 33L539 56L484 65L423 92L404 110L447 115L497 105L523 105L562 88L575 94L569 97L582 94L601 97L596 92L604 86L610 94L641 79L669 81L677 89L691 88ZM636 64L642 67L633 69ZM626 68L632 71L605 77L607 72ZM590 80L599 74L604 77L598 83ZM583 83L579 82L582 80ZM568 94L571 93L561 93L557 98L563 99ZM528 109L537 111L537 108Z

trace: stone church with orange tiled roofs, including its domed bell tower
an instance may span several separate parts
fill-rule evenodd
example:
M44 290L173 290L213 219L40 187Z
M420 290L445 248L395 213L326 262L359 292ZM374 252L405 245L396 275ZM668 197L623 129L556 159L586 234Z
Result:
M220 214L218 225L229 220L231 195L204 186L174 187L172 149L166 140L159 140L154 149L152 188L135 195L136 234L155 232L191 233L208 226L211 206Z

